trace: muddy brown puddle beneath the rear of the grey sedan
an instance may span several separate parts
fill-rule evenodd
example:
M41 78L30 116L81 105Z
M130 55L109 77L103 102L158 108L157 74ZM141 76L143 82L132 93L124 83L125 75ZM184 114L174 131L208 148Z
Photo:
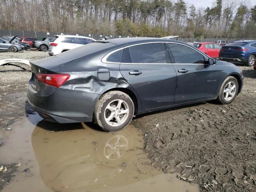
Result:
M198 191L197 185L154 169L143 152L142 132L131 125L107 133L92 123L41 120L30 115L10 126L12 131L0 131L8 138L0 162L22 164L3 192Z

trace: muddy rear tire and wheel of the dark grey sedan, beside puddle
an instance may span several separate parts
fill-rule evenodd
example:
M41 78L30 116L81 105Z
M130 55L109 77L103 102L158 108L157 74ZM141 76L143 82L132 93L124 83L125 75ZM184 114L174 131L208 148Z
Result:
M105 131L118 131L128 126L133 114L132 99L124 92L110 91L97 101L94 121Z

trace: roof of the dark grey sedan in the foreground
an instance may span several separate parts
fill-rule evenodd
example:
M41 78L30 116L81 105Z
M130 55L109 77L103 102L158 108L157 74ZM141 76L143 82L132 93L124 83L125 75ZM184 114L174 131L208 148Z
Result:
M115 38L115 39L108 39L108 40L100 40L98 42L103 43L112 43L116 45L132 45L144 42L180 42L176 40L164 39L164 38L150 38L150 37L131 37L131 38ZM186 44L184 42L180 42L182 44Z

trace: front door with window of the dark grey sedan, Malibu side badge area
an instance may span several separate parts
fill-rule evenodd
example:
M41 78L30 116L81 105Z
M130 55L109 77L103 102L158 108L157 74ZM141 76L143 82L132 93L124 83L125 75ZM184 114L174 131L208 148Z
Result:
M214 98L219 81L218 67L207 64L208 58L190 46L166 44L177 73L175 103Z

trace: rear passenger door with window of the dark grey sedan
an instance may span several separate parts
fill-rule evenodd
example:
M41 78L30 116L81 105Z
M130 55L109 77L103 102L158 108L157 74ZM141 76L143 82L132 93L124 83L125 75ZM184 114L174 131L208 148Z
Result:
M177 77L164 46L152 42L124 48L120 72L136 90L145 109L174 104Z

